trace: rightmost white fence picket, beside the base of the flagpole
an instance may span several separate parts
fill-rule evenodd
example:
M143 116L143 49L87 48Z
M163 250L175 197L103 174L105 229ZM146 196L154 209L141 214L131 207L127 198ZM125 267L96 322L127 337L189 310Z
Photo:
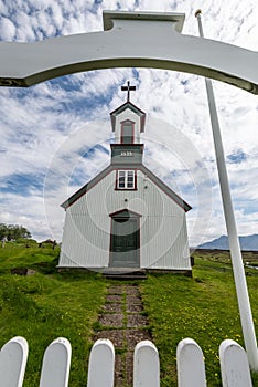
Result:
M219 346L223 387L251 387L250 368L245 349L233 339Z

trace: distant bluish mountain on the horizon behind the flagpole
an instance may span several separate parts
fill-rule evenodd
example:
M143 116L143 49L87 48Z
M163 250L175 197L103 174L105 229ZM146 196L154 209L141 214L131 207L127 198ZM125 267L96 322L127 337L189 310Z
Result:
M239 237L241 250L258 251L258 234ZM212 250L229 250L228 238L222 236L214 239L211 242L202 243L197 247L198 249L212 249Z

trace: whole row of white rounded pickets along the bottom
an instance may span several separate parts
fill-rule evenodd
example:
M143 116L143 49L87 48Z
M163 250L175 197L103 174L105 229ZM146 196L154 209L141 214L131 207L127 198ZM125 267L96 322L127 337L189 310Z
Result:
M52 342L45 351L40 387L67 387L72 348L66 338ZM0 352L0 385L22 387L26 367L28 343L13 337ZM252 387L246 352L232 339L219 346L223 387ZM192 338L176 348L178 386L205 387L205 365L201 347ZM87 387L114 387L115 348L109 339L98 339L90 352ZM79 372L79 370L78 370ZM86 381L85 381L86 386ZM133 358L133 387L159 387L160 362L154 344L137 344Z

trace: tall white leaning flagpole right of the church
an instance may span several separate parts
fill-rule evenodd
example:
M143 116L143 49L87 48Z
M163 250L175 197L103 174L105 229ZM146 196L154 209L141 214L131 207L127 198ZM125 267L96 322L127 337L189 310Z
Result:
M195 17L198 22L200 36L203 38L203 27L201 20L201 10L195 12ZM245 347L247 352L247 357L249 366L252 370L258 372L258 349L256 333L254 326L254 320L251 315L250 301L247 290L246 275L243 264L241 251L239 239L237 234L236 221L233 210L232 196L229 190L229 182L225 163L225 156L223 150L223 143L219 129L219 123L216 111L216 103L213 93L213 85L209 79L205 77L205 85L207 92L209 117L213 129L213 139L217 161L218 178L221 184L221 192L224 208L224 216L226 221L228 242L232 255L232 265L236 285L237 301L241 321L243 335L245 341Z

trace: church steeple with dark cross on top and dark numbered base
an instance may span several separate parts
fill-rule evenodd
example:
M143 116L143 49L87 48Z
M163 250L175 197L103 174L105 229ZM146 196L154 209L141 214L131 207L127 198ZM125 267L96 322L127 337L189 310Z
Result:
M127 102L110 113L115 144L111 145L112 164L141 164L143 145L140 134L144 132L146 113L130 102L130 92L136 91L127 82L121 86L127 92Z

